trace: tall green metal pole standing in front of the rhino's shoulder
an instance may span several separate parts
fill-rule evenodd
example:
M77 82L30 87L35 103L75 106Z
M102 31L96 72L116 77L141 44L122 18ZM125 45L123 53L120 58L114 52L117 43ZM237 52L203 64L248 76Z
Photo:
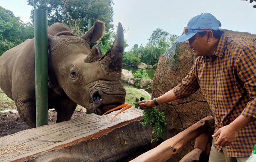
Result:
M47 11L34 9L35 106L37 127L48 124Z

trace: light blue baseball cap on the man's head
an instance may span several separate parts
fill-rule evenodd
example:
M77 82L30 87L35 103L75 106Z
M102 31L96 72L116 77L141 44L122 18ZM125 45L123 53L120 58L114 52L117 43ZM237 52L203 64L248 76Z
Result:
M177 42L185 42L192 38L197 32L218 30L221 22L211 13L201 13L189 20L187 27L184 28L183 34L176 39Z

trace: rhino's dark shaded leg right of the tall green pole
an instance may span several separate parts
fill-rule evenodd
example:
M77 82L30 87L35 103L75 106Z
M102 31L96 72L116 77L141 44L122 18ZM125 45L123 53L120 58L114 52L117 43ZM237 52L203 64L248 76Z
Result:
M76 109L76 105L77 104L69 98L61 100L59 104L55 106L55 109L57 111L56 123L70 120L71 116L73 115Z

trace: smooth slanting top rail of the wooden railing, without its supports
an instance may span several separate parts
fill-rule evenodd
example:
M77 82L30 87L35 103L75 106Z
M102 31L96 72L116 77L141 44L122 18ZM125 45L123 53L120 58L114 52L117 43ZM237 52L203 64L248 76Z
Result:
M159 146L133 159L131 162L158 162L167 161L172 155L194 140L203 132L209 131L214 126L214 119L210 116L198 121L176 136L165 140Z

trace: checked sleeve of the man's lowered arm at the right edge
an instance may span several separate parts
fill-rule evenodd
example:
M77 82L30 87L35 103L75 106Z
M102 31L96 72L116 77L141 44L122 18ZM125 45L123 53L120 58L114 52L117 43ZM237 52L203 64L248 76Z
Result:
M256 118L256 47L245 46L237 59L237 73L249 93L250 101L242 111L248 118Z

